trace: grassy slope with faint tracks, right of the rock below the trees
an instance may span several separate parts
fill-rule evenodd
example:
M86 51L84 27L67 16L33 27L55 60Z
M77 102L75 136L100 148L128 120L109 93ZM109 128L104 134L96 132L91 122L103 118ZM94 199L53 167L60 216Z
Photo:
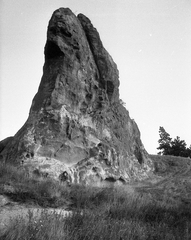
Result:
M150 155L150 158L154 174L148 181L137 184L136 189L157 200L191 206L191 159L160 155Z

